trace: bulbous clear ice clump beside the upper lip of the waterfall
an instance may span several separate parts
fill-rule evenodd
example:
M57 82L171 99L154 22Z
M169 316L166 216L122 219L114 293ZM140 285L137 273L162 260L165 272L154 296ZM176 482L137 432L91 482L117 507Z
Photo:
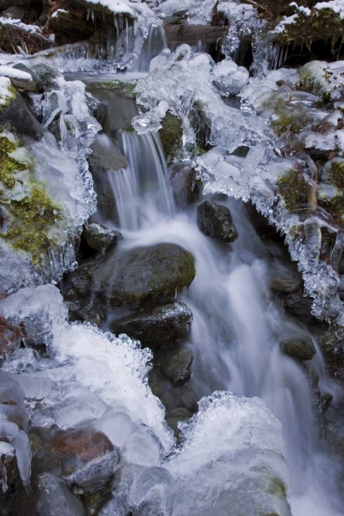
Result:
M226 65L230 66L229 63L227 61ZM180 45L173 54L164 50L151 61L149 76L138 81L136 101L139 107L149 111L133 118L133 127L139 134L156 131L170 111L183 122L184 151L188 157L197 131L189 115L196 107L211 127L209 142L213 145L226 145L228 151L233 152L241 145L252 147L259 141L272 142L264 122L257 116L226 106L213 85L214 81L228 93L238 91L246 83L240 68L232 66L233 75L221 80L221 67L215 67L208 54L193 54L189 45Z

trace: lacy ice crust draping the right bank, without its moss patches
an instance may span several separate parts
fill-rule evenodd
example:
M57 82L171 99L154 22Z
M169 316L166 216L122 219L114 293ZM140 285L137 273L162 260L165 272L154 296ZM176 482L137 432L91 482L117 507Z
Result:
M225 193L255 203L286 235L292 259L299 261L305 279L305 294L314 298L314 315L329 320L340 320L343 314L336 294L341 283L338 256L342 231L321 208L316 213L290 211L278 195L278 181L290 170L298 169L302 160L305 183L316 188L312 179L314 163L309 156L283 157L285 143L272 132L270 123L277 103L305 109L304 117L309 117L310 122L299 133L301 143L306 148L337 149L341 155L344 131L336 129L341 112L315 109L314 104L323 94L330 95L333 101L342 97L343 65L341 61L312 61L299 70L279 69L252 77L246 84L247 74L241 73L230 58L214 65L208 54L193 54L188 45L181 45L173 54L164 50L153 59L147 78L138 81L137 103L143 112L133 119L136 131L145 133L160 129L167 111L178 116L184 127L184 158L189 159L198 130L190 114L197 105L210 127L208 143L214 146L194 162L204 193ZM310 83L310 93L294 91L301 81ZM241 110L225 105L220 96L238 91ZM328 129L320 134L315 128L321 123L326 123ZM233 155L238 147L248 147L245 158ZM294 237L298 228L307 228L305 237ZM330 228L337 237L330 264L320 259L321 228Z

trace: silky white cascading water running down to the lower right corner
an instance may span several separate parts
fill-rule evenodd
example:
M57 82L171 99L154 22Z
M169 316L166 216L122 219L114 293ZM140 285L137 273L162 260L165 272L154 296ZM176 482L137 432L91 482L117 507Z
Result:
M123 133L122 138L129 166L112 175L112 186L125 234L123 248L170 242L195 257L197 275L182 299L193 312L193 396L224 389L262 398L282 422L293 515L340 515L334 465L319 451L314 430L307 374L279 348L283 334L307 330L288 320L271 301L267 249L244 205L224 202L239 234L235 243L205 237L197 227L195 208L175 213L158 136ZM319 374L322 389L336 396L336 385L325 378L319 353L309 367Z

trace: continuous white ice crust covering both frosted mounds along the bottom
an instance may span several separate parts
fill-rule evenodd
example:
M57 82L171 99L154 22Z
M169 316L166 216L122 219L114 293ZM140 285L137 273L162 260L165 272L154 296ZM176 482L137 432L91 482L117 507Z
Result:
M203 398L197 415L181 424L182 446L177 449L164 422L164 408L147 384L150 350L89 323L68 323L67 307L52 285L12 294L0 301L0 315L11 324L23 323L28 338L36 329L36 342L45 341L48 355L35 358L26 347L8 358L0 378L6 380L1 381L0 408L8 396L23 407L25 397L32 425L57 424L65 430L91 425L117 447L120 462L113 498L100 514L114 513L116 508L137 516L199 515L206 510L225 515L224 500L241 506L236 487L239 464L246 508L259 503L290 516L284 496L273 502L266 494L271 483L285 486L287 475L281 424L261 400L227 392ZM10 431L21 436L21 440L11 437L10 442L22 461L21 476L27 484L26 428L18 430L4 415L0 410L0 426L5 425L1 435L5 429L6 436L12 436ZM1 446L0 442L0 452ZM255 473L248 465L256 468ZM208 490L218 496L208 497Z

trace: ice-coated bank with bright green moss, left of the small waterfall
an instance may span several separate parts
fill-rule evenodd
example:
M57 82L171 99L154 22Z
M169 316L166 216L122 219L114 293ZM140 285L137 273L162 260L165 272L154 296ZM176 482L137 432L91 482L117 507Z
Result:
M15 98L14 90L8 92ZM87 156L100 125L90 114L85 85L57 76L45 96L30 96L51 132L43 130L40 140L0 135L1 201L8 220L1 233L1 292L57 282L73 269L74 241L96 210Z

